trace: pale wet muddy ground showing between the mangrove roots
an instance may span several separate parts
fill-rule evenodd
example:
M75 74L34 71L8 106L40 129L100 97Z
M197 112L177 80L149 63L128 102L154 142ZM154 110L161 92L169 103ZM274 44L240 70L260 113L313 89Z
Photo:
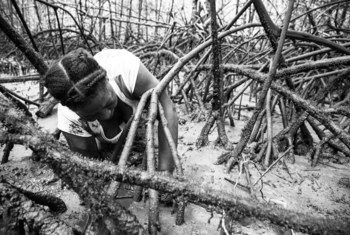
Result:
M32 85L31 85L32 84ZM16 92L22 92L27 98L35 98L37 95L37 84L28 82L25 85L7 85ZM253 105L245 102L245 105ZM224 149L215 145L217 130L214 129L209 136L209 145L197 149L195 142L203 121L191 121L191 115L185 114L181 107L178 107L180 123L179 125L179 146L178 151L181 157L185 177L197 181L203 186L208 186L219 190L250 197L251 195L239 185L235 185L229 180L247 185L245 174L235 167L230 174L225 173L223 165L214 165L217 157L225 152ZM31 106L31 111L36 108ZM240 120L235 120L235 127L226 126L229 139L237 143L240 138L241 129L245 121L249 118L249 112L243 112ZM235 116L237 117L237 115ZM52 132L56 125L55 110L52 115L45 119L38 119L40 125ZM280 128L280 117L274 116L274 132ZM2 151L0 152L0 156ZM86 223L87 208L81 205L78 195L72 190L63 186L50 169L40 163L30 160L31 151L22 146L15 146L10 155L10 162L0 166L0 175L4 175L16 181L17 186L27 188L31 191L51 192L62 198L68 211L59 215L68 224L82 228ZM292 164L286 159L286 165L276 164L263 177L263 187L261 193L256 196L261 201L278 204L279 206L293 211L309 213L310 215L323 215L333 217L341 216L350 219L350 159L334 156L332 159L322 159L316 167L310 166L310 159L305 156L296 155L295 163ZM252 174L252 182L259 178L259 172L264 169L260 166L249 165ZM20 172L20 173L18 173ZM227 180L228 179L228 180ZM261 183L257 184L258 187ZM132 196L129 187L125 187L123 196ZM122 204L127 205L139 219L141 224L147 227L147 202L132 202L124 199ZM189 204L185 213L185 224L175 225L175 216L171 214L172 208L161 207L160 221L161 234L219 234L218 225L222 218L220 214L207 211L205 208ZM213 217L212 217L213 216ZM259 221L254 218L244 218L234 222L233 234L282 234L293 231L286 231L283 228L271 225L268 221ZM295 232L294 232L295 233ZM298 234L298 233L295 233ZM300 233L299 233L300 234Z

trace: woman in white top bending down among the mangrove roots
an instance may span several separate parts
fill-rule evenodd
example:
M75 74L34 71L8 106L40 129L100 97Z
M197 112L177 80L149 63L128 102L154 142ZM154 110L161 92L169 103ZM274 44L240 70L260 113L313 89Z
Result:
M53 63L45 75L49 93L61 102L58 124L71 150L96 157L117 143L144 92L158 80L126 50L106 49L94 57L77 49ZM177 143L178 119L167 92L160 96ZM160 125L159 125L160 126ZM158 130L160 171L173 171L171 151Z

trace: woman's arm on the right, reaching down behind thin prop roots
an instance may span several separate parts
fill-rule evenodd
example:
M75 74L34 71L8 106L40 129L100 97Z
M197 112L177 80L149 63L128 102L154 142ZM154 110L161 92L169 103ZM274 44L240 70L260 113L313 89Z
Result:
M158 85L159 81L148 71L141 63L137 74L134 95L141 97L143 93ZM165 117L168 121L168 128L177 145L178 138L178 117L174 103L171 101L168 92L164 90L159 97L160 103L163 106ZM171 150L166 140L161 124L158 126L158 141L159 141L159 165L158 170L169 171L174 170L174 162L171 156Z

